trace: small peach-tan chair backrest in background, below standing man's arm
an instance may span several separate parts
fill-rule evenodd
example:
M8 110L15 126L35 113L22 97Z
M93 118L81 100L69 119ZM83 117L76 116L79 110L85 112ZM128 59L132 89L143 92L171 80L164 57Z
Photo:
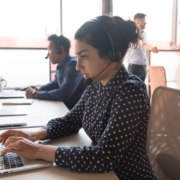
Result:
M163 66L149 66L150 97L158 86L166 86L166 71Z

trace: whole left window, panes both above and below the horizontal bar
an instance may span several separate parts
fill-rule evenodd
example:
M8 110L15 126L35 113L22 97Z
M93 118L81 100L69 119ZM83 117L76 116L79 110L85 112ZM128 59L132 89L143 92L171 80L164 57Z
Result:
M60 34L60 0L0 0L0 24L0 75L9 85L48 83L47 36Z

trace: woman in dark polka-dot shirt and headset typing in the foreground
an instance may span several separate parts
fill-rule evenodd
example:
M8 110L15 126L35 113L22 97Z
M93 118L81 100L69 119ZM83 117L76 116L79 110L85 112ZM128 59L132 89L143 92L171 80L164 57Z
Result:
M76 69L88 85L80 101L65 117L50 120L36 132L8 130L0 135L6 152L44 159L77 172L113 170L121 180L157 180L147 152L150 114L146 86L123 66L139 30L120 17L99 16L84 23L75 34ZM35 144L77 133L80 128L94 146L56 147ZM19 141L21 143L19 143Z

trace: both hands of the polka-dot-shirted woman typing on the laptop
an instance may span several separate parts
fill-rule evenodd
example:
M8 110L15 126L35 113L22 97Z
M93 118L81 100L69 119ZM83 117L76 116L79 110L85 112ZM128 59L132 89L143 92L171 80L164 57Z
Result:
M13 152L26 159L43 159L55 162L55 152L58 147L35 143L47 137L47 131L40 129L36 132L7 130L0 135L0 142L5 148L0 151L0 156Z

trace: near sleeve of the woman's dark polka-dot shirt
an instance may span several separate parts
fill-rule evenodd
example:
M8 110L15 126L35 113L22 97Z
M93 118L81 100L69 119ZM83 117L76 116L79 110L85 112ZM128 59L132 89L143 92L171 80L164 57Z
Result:
M139 124L144 120L142 116L146 107L142 96L136 85L126 85L112 103L107 126L97 144L89 147L59 147L55 154L56 164L78 172L118 169L122 157L139 133ZM61 131L64 127L59 128Z

